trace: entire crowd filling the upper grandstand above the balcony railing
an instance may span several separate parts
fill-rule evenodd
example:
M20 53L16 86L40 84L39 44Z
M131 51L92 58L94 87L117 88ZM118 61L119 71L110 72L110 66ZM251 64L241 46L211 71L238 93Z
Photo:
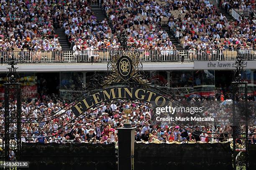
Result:
M95 1L96 2L96 1ZM86 0L1 1L2 51L61 51L54 28L63 28L73 51L118 47L125 31L128 45L140 50L176 50L163 25L168 25L182 47L190 50L251 50L256 47L255 13L227 20L209 0L103 0L106 18L97 20ZM231 7L254 7L254 0L220 1ZM208 53L208 51L207 51ZM75 55L74 55L75 56ZM34 57L40 58L40 55ZM196 57L196 56L195 56ZM194 58L192 56L192 58ZM59 59L58 59L59 60Z

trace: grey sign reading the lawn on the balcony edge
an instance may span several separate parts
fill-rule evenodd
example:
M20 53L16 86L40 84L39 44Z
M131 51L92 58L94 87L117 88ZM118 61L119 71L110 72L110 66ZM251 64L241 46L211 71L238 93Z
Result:
M256 61L245 61L246 69L256 69ZM194 69L234 70L235 61L195 61Z

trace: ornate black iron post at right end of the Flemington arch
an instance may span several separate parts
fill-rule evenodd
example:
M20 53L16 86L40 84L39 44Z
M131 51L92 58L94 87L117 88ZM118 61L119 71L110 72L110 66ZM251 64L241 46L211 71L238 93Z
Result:
M248 170L248 82L243 70L243 57L238 54L233 75L233 169ZM243 131L243 128L245 130ZM244 154L242 156L242 154Z

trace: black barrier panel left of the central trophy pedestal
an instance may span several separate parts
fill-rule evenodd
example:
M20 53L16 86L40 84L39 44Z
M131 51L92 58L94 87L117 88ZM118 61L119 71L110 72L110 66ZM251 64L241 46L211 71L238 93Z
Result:
M115 170L115 144L22 143L21 160L30 170Z

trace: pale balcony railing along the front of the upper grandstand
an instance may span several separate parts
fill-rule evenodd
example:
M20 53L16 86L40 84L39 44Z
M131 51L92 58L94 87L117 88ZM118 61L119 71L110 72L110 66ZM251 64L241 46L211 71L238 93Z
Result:
M244 60L256 60L256 50L139 50L142 62L189 62L235 60L241 53ZM110 51L1 51L1 63L14 55L20 63L108 62Z

